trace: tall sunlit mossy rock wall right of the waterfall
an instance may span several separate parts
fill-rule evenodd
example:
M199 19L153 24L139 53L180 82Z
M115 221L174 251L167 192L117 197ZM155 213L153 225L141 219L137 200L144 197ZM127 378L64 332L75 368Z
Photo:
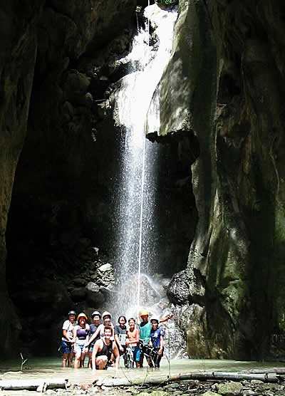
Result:
M189 306L190 356L264 358L284 331L284 6L180 0L180 10L159 134L199 142L199 222L169 296Z

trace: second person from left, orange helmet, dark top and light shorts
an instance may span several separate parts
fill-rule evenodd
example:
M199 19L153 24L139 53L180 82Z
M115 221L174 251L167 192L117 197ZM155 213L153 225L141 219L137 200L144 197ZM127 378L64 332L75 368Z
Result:
M74 368L84 367L84 360L86 353L88 353L88 348L86 348L86 343L89 340L90 326L87 321L87 316L85 313L79 313L77 317L78 325L73 329L73 338L75 339L74 353L76 358L74 360Z

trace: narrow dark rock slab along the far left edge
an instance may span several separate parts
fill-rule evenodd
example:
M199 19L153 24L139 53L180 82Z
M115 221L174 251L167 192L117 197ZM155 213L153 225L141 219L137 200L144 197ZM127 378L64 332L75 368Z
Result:
M1 349L9 349L21 325L6 291L6 224L16 165L26 135L36 62L36 24L43 1L13 1L1 6L1 136L0 136L0 301ZM20 11L19 13L15 12Z

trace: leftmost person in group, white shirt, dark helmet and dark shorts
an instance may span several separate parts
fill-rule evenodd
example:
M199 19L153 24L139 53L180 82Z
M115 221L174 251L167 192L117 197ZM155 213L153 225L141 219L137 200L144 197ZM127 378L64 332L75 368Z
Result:
M63 337L61 338L61 350L63 353L63 363L62 366L66 368L66 363L68 362L68 367L72 367L72 360L74 357L73 351L73 328L76 325L76 311L68 312L68 319L63 322Z

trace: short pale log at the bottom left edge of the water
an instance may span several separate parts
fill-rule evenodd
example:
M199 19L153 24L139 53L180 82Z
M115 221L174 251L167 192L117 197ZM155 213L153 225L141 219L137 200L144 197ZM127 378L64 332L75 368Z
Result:
M68 380L0 380L1 390L40 390L68 387Z

